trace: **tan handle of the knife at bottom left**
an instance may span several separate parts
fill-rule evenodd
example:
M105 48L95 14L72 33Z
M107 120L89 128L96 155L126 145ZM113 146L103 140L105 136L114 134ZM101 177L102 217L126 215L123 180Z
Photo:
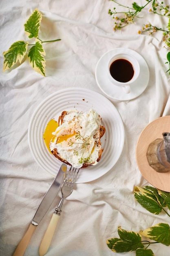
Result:
M26 231L25 235L20 240L20 243L18 244L17 248L15 249L13 256L24 255L26 247L28 246L31 236L33 235L33 232L35 231L36 227L37 226L34 226L32 224L29 225L29 229Z

